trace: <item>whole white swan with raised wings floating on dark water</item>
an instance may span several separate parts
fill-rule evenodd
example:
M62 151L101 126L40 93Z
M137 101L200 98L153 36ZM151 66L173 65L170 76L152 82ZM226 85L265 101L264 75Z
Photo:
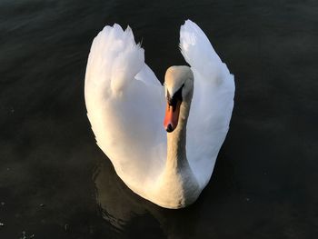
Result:
M162 85L132 29L106 25L84 81L96 144L116 174L135 194L171 209L193 204L208 184L235 90L234 75L191 20L181 26L180 49L190 66L169 67Z

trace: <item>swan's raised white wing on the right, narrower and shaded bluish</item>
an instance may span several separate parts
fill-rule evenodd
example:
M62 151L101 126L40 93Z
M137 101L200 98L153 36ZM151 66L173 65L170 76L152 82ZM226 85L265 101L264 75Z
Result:
M205 185L229 129L234 106L234 75L215 53L204 32L190 20L181 26L180 48L194 72L187 156L199 184Z

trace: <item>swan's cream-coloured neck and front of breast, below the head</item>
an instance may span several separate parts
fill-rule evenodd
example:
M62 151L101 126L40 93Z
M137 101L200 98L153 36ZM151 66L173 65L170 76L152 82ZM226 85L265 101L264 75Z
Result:
M201 192L186 158L186 123L189 110L190 103L183 102L178 125L172 133L167 134L167 159L156 199L157 204L168 208L192 204Z

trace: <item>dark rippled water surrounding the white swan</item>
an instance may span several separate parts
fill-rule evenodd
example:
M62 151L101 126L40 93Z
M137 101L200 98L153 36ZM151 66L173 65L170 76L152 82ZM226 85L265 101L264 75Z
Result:
M0 238L316 238L317 1L0 2ZM191 18L235 75L210 184L183 210L133 194L94 144L84 71L131 25L162 80ZM25 232L25 233L24 233Z

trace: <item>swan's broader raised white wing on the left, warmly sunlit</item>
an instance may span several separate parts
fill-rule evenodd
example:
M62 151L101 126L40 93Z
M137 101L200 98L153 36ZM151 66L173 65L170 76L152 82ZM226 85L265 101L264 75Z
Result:
M85 75L85 104L97 144L133 190L155 178L165 159L164 87L144 63L132 30L105 26ZM147 177L151 174L152 177Z

